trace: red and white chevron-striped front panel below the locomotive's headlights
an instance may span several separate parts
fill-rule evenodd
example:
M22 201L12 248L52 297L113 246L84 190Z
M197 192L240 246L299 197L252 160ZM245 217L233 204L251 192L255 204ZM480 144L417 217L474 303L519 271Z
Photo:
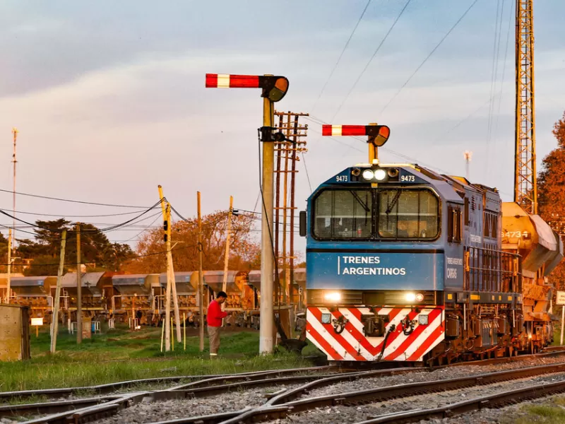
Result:
M388 314L389 322L385 333L392 324L396 329L386 341L382 360L421 361L424 355L444 340L444 307L427 307L420 312L410 308L381 308L379 315ZM363 333L361 316L373 314L367 307L340 307L331 312L326 307L309 307L307 310L307 338L326 353L328 360L376 360L383 348L384 337L367 337ZM332 319L343 316L348 320L345 329L337 334L333 324L322 324L321 315L332 314ZM416 324L414 331L406 336L400 321L418 319L419 314L427 314L429 324Z

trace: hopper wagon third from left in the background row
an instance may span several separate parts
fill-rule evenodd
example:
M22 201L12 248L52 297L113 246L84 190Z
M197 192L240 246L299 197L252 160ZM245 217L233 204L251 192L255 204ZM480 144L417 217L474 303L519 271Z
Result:
M114 318L126 319L141 315L140 324L153 322L153 315L159 311L158 302L165 295L159 274L130 274L112 276L114 294L111 300Z

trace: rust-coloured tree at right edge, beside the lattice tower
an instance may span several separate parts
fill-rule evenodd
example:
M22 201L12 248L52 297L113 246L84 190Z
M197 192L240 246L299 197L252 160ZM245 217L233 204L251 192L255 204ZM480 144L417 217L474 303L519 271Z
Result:
M537 177L537 207L540 216L557 230L565 233L565 112L554 124L553 135L557 148L549 152L542 161L542 172ZM549 276L557 288L565 288L565 264Z

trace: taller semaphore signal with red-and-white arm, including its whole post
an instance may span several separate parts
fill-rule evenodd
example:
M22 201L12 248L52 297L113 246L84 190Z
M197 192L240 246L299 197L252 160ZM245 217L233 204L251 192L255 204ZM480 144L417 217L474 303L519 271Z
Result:
M284 76L273 75L230 75L222 73L206 73L206 88L261 88L263 98L263 126L261 141L263 142L263 172L261 194L263 213L261 214L261 328L259 329L259 352L272 353L274 347L273 334L273 172L276 141L283 141L283 134L274 134L274 103L282 100L288 90L288 80ZM283 136L283 139L280 139Z

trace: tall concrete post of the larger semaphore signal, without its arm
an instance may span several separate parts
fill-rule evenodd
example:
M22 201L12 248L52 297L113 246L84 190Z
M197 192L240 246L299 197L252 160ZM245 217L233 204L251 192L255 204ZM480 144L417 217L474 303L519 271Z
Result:
M273 102L263 98L263 126L273 126ZM273 167L275 146L263 142L263 213L261 214L261 328L259 353L273 352Z

